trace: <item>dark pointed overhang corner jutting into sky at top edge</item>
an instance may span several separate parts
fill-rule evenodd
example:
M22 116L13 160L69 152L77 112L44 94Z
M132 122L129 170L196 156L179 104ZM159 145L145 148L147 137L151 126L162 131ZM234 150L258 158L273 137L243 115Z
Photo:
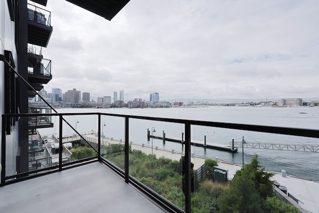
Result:
M67 0L111 20L130 0Z

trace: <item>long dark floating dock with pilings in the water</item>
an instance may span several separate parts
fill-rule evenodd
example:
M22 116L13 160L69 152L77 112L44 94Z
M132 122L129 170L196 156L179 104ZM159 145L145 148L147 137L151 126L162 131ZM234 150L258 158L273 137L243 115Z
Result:
M154 138L154 139L160 139L163 141L163 143L165 143L165 141L170 141L170 142L175 142L175 143L179 143L179 144L184 144L185 141L180 140L178 138L172 138L172 137L166 137L165 133L163 132L163 135L151 135L150 131L148 130L148 140L150 138ZM205 141L192 141L191 145L195 146L195 147L203 147L203 148L208 148L208 149L215 149L215 150L220 150L220 151L226 151L226 152L231 152L231 153L236 153L237 152L237 147L234 147L234 149L230 146L227 145L223 145L223 144L216 144L216 143L206 143L206 137L205 137Z

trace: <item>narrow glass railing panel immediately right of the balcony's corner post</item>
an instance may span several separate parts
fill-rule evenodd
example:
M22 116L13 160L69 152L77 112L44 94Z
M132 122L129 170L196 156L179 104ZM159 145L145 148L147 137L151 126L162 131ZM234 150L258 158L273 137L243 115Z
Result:
M101 116L101 156L124 171L125 118Z

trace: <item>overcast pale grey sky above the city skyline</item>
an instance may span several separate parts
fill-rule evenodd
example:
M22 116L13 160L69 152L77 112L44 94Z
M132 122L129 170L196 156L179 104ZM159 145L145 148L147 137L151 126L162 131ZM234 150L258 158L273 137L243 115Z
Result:
M131 0L111 21L48 0L52 88L124 101L319 100L318 0ZM118 97L119 98L119 97Z

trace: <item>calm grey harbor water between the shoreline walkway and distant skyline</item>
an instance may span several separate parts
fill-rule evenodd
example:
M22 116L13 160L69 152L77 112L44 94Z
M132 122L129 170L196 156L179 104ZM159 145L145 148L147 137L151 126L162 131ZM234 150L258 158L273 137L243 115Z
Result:
M197 108L150 108L150 109L128 109L128 108L110 108L110 109L79 109L64 108L57 109L59 113L89 113L101 112L110 114L125 114L150 116L160 118L176 118L186 120L213 121L238 124L254 124L278 127L293 127L303 129L319 129L319 107L197 107ZM97 116L78 115L64 117L70 125L78 132L97 132L98 121ZM38 129L41 135L58 134L57 117L52 116L53 128ZM101 116L101 131L105 137L124 140L124 118ZM168 142L163 143L162 140L148 140L147 130L156 130L154 134L162 135L165 132L166 137L182 139L184 125L146 121L138 119L130 119L129 140L137 144L146 144L153 147L158 146L161 149L183 152L183 147L179 143ZM72 135L74 131L67 125L62 127L63 135ZM152 133L151 133L152 134ZM191 140L204 141L206 135L206 143L217 143L230 145L232 138L235 142L241 142L242 137L246 142L254 143L273 143L273 144L303 144L318 145L319 139L306 138L297 136L286 136L269 133L249 132L242 130L231 130L213 127L191 126ZM206 158L218 157L220 160L242 164L242 156L244 162L249 163L251 158L258 154L259 161L267 171L281 172L285 170L287 174L319 181L319 152L302 152L302 151L284 151L270 149L252 149L238 148L237 153L228 153L224 151L204 149L201 147L192 147L191 150L195 156Z

